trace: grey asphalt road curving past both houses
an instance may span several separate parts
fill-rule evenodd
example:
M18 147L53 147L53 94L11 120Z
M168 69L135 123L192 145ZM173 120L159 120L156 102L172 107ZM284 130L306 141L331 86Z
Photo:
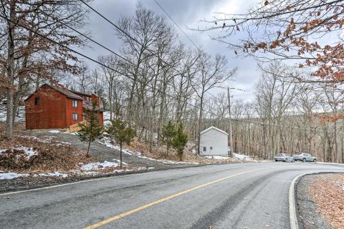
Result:
M2 194L0 228L290 228L290 182L325 171L344 167L225 164Z

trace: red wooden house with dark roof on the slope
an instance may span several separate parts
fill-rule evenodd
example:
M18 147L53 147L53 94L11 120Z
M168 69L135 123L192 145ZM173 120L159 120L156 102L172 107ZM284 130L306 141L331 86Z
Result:
M65 129L85 120L84 110L92 109L92 102L98 105L99 124L103 125L98 96L45 84L25 100L26 129Z

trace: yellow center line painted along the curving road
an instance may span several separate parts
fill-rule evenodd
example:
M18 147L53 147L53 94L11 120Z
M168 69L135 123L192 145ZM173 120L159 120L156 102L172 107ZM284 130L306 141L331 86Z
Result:
M98 223L94 223L94 224L92 224L91 226L85 227L84 229L99 228L100 226L104 226L104 225L107 224L107 223L111 223L112 221L115 221L115 220L120 219L120 218L122 218L122 217L126 217L126 216L128 216L128 215L131 215L131 214L133 214L133 213L135 213L135 212L138 212L138 211L140 211L140 210L143 210L143 209L145 209L145 208L149 208L149 207L154 206L154 205L156 205L156 204L160 204L160 203L162 203L162 202L164 202L164 201L166 201L166 200L173 199L173 198L175 198L175 197L179 197L180 195L184 195L184 194L186 194L186 193L190 193L191 191L196 190L196 189L198 189L198 188L203 188L203 187L205 187L205 186L209 186L209 185L211 185L211 184L215 184L215 183L217 183L217 182L221 182L221 181L223 181L224 179L229 179L229 178L235 177L235 176L237 176L237 175L242 175L242 174L244 174L244 173L250 173L250 172L257 171L257 170L261 170L261 169L263 169L263 168L257 168L257 169L254 169L254 170L250 170L250 171L246 171L246 172L242 172L242 173L237 173L237 174L235 174L235 175L230 175L230 176L228 176L228 177L223 177L223 178L220 178L220 179L216 179L216 180L214 180L213 182L208 182L208 183L205 183L205 184L201 184L201 185L196 186L196 187L194 187L194 188L189 188L189 189L183 190L183 191L180 192L180 193L175 193L175 194L170 195L170 196L168 196L168 197L164 197L164 198L162 198L162 199L155 200L155 201L153 201L153 202L151 202L151 203L149 203L149 204L144 204L143 206L140 206L140 207L138 207L138 208L134 208L134 209L129 210L129 211L127 211L127 212L123 212L123 213L120 214L120 215L115 215L115 216L113 216L113 217L110 217L110 218L105 219L105 220L103 220L103 221L100 221L100 222L98 222Z

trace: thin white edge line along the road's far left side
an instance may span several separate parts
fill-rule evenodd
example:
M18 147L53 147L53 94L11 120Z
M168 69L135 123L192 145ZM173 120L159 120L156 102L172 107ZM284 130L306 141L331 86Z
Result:
M208 167L208 166L211 166L211 164L210 165L206 165L206 166L195 166L195 167L189 167L189 168L166 169L166 170L162 170L162 171L147 171L147 172L142 172L142 173L133 173L133 174L129 174L129 175L117 175L117 176L114 175L114 176L111 176L111 177L89 178L89 179L80 180L78 182L70 182L70 183L66 183L66 184L56 184L56 185L52 185L52 186L46 186L46 187L43 187L43 188L32 188L32 189L27 189L27 190L14 191L14 192L10 192L10 193L0 193L0 197L4 196L4 195L12 195L12 194L17 194L17 193L28 193L28 192L32 192L32 191L36 191L36 190L44 190L44 189L50 189L50 188L57 188L57 187L68 186L68 185L72 185L72 184L80 184L80 183L85 183L85 182L96 182L98 180L103 180L103 179L116 179L116 178L120 178L120 177L132 177L132 176L147 175L147 174L152 174L152 173L163 173L163 172L169 172L169 171L181 171L181 170L190 169L190 168L202 168L202 167Z

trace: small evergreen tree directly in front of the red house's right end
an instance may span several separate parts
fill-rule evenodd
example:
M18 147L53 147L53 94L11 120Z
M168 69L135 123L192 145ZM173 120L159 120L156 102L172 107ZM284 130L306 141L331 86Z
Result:
M99 124L96 102L92 103L91 110L84 110L84 112L88 123L79 123L79 127L81 129L78 131L78 136L82 142L88 141L86 157L89 157L89 146L91 146L91 142L94 142L94 140L103 133L103 127Z

